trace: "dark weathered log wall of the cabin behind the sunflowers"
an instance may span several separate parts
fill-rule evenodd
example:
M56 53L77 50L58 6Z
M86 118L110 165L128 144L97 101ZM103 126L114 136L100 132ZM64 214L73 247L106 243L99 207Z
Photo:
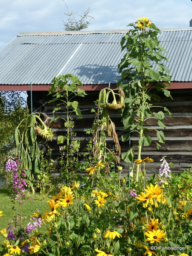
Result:
M166 155L167 162L172 162L175 167L172 167L173 172L183 171L186 168L192 166L192 89L177 89L170 90L171 95L174 100L167 98L166 96L161 96L160 103L152 102L154 105L166 107L171 111L175 117L167 116L165 114L164 124L166 129L163 129L157 125L156 119L147 119L145 122L145 127L148 128L145 136L150 135L153 141L158 141L156 137L156 132L153 128L160 131L162 130L165 135L166 143L161 144L161 148L158 150L155 147L155 143L152 142L150 146L143 147L142 150L142 159L145 157L150 157L154 159L153 163L146 165L147 174L157 173L160 168L160 159ZM92 108L95 108L96 105L94 101L98 99L99 91L88 91L87 96L81 98L76 97L74 100L79 102L79 108L83 115L82 119L79 119L76 115L72 115L74 118L75 126L73 131L76 132L76 139L81 140L80 152L84 154L87 152L86 146L89 143L89 140L92 140L89 134L86 134L87 129L91 129L93 125L93 120L95 115L91 112ZM157 93L156 93L157 94ZM30 107L30 92L28 92L28 105ZM45 102L51 99L50 96L47 96L47 92L33 92L33 111L41 113L41 117L46 124L49 124L51 118L53 118L52 110L56 107L56 103L46 103ZM30 109L30 108L29 108ZM160 111L160 108L154 108L154 111ZM116 125L116 132L119 138L119 143L121 145L121 152L128 151L128 142L121 141L121 135L126 133L123 129L121 122L121 115L118 113L118 110L110 110L110 118ZM58 115L58 114L56 114ZM63 114L59 113L61 117L64 117ZM55 165L58 166L57 157L59 156L59 146L57 145L57 136L64 135L66 133L66 128L64 127L64 120L58 119L56 122L49 124L54 131L54 138L52 142L49 142L49 145L52 147L52 158L55 161ZM137 145L138 143L138 133L134 132L131 136L131 146ZM107 147L112 151L113 150L113 140L111 137L107 137ZM135 156L137 156L137 151L135 151ZM123 166L124 172L128 172L128 163L125 163L121 160L121 166Z

